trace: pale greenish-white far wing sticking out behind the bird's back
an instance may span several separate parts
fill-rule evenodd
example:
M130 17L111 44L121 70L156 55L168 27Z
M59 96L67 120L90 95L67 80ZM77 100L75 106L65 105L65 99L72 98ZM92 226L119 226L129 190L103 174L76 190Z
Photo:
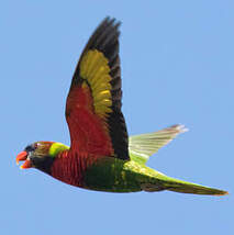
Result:
M148 157L171 142L178 134L187 132L185 125L172 125L158 132L130 137L129 152L133 160L145 164Z

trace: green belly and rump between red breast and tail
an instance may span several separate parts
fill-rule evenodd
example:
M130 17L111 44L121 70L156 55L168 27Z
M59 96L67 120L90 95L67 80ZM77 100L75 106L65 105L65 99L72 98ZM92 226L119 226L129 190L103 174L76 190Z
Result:
M89 167L85 188L108 192L141 191L142 183L155 182L157 171L133 160L105 157Z

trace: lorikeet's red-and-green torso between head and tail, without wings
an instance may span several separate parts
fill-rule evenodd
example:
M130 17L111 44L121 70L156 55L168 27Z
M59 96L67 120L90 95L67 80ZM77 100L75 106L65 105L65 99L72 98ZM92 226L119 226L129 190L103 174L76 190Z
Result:
M125 161L110 156L74 157L69 156L68 150L62 150L49 174L71 186L98 191L135 192L146 189L147 184L154 186L155 191L157 188L163 190L163 180L167 177L136 159Z

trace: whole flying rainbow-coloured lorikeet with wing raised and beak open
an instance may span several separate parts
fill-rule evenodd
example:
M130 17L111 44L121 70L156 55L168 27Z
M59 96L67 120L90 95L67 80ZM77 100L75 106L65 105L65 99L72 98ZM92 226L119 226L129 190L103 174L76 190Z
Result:
M226 191L165 176L145 164L186 128L174 125L129 138L121 112L120 22L105 18L86 45L66 102L70 147L35 142L16 156L71 186L108 192L161 191L223 195Z

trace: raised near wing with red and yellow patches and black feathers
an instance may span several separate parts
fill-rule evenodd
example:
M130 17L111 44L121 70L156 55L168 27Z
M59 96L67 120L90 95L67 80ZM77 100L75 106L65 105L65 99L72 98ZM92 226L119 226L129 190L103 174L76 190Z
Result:
M129 141L121 112L119 26L107 18L86 45L66 103L70 150L80 156L113 156L127 160Z

